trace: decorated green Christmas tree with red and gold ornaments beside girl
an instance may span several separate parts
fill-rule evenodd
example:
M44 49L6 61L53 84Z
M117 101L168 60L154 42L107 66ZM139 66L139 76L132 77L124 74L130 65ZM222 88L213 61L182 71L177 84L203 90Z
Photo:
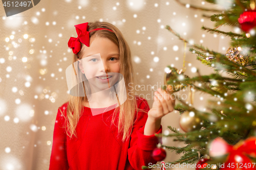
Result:
M176 0L179 4L180 1ZM189 51L197 55L197 60L214 68L214 74L189 78L185 67L178 70L168 66L165 74L165 89L174 94L188 89L190 103L177 101L175 110L181 114L179 132L168 126L173 133L159 134L158 137L174 137L177 142L184 142L185 147L172 147L159 144L158 152L153 157L161 161L165 150L183 154L179 160L165 162L167 167L176 164L195 164L196 169L256 169L256 10L255 1L206 0L211 4L229 4L225 10L204 9L189 5L192 9L216 12L208 17L215 22L215 28L202 27L203 30L230 37L230 47L226 54L221 54L198 44L189 44ZM219 27L232 26L241 28L241 34L223 32ZM166 29L176 35L186 45L189 43L171 27ZM184 64L183 64L184 66ZM227 73L222 76L220 71ZM194 108L195 91L208 93L215 97L209 100L208 111ZM178 100L178 99L177 99ZM163 150L162 148L165 148ZM159 165L159 164L158 164ZM173 166L172 166L173 165ZM157 166L158 167L158 166ZM191 166L193 167L193 166ZM142 166L147 169L148 166Z

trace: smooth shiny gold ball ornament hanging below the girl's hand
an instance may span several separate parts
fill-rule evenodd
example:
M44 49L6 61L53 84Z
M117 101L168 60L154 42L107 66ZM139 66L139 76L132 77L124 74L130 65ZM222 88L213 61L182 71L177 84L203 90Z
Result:
M202 125L201 118L199 118L193 111L185 111L180 117L180 127L184 132L191 132L194 130L200 130Z

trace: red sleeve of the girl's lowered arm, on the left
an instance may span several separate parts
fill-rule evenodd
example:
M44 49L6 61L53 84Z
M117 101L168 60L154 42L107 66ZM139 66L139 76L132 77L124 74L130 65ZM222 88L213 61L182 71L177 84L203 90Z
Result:
M67 134L65 131L65 118L61 114L60 108L55 120L53 141L52 141L52 153L50 158L49 170L65 170L69 169L69 163L67 158ZM63 109L61 110L63 111Z

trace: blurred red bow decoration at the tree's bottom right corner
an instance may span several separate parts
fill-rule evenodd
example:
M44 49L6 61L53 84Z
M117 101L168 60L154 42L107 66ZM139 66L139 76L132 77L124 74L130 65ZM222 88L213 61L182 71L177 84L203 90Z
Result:
M224 161L224 168L227 169L239 169L239 165L252 164L251 159L247 156L256 158L256 137L249 137L244 141L240 141L235 145L228 144L223 138L218 137L210 144L209 154L211 157L218 157L228 154ZM234 165L232 168L232 164ZM256 169L253 166L244 167L245 169Z

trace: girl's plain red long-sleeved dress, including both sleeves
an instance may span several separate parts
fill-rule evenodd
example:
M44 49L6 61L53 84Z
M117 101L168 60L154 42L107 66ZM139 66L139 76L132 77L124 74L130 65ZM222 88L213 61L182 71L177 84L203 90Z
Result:
M150 110L145 99L137 98L137 104L140 109ZM67 106L68 102L59 107L65 116ZM148 163L156 164L151 153L161 140L154 134L143 135L147 113L138 112L129 140L122 142L121 137L117 138L117 122L110 128L113 111L93 116L91 109L84 107L76 127L78 138L70 139L65 128L61 128L65 118L58 110L49 170L132 170L142 169L141 166L148 166ZM162 125L157 133L162 133Z

